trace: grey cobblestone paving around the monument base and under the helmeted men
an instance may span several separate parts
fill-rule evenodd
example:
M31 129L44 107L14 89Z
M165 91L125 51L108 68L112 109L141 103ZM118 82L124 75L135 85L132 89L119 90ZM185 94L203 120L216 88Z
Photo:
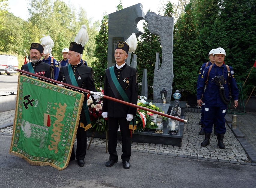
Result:
M185 123L183 130L183 138L181 147L167 146L164 144L148 144L148 143L132 143L132 150L144 153L154 153L160 155L187 157L192 159L201 159L209 161L229 162L236 164L249 164L249 158L245 150L233 135L227 126L227 132L224 136L224 144L226 149L219 149L217 146L217 137L212 134L210 144L207 147L201 147L200 143L204 140L203 135L199 135L200 113L185 113ZM0 130L0 134L12 134L13 126ZM87 139L87 145L91 138ZM102 138L93 138L91 145L105 147L106 141ZM122 149L121 141L117 142L117 149Z

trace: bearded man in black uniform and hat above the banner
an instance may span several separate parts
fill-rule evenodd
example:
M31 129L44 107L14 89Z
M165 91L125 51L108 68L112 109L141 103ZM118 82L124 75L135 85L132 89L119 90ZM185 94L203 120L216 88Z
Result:
M41 60L43 51L44 47L41 44L32 43L29 50L31 62L22 65L21 70L54 79L53 67L47 63L42 62ZM27 76L31 77L30 75Z

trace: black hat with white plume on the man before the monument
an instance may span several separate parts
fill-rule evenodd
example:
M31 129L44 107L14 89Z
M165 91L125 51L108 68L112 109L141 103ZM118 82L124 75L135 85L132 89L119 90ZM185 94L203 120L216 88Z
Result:
M123 41L118 42L115 47L115 50L122 49L128 54L128 52L129 53L135 52L136 47L137 47L137 38L135 33L133 33L129 38L127 38L125 42Z

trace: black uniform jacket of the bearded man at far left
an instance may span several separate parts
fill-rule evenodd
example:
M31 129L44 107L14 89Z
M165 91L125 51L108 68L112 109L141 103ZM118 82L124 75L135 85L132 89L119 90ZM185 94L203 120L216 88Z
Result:
M40 60L39 62L37 62L35 64L34 63L31 63L31 64L35 71L35 74L54 79L53 67L51 65L49 65L45 62L42 62L42 60ZM22 65L21 70L29 72L28 64ZM23 74L23 73L21 73L21 74ZM27 75L27 76L31 77L30 75Z

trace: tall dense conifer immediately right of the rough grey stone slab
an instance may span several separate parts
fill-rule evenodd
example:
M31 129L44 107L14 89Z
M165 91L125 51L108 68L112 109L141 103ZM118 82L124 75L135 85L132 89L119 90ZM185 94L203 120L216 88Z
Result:
M177 31L173 41L173 90L180 90L183 96L196 94L195 86L201 66L198 64L201 54L198 23L194 17L194 8L189 3L176 23Z

